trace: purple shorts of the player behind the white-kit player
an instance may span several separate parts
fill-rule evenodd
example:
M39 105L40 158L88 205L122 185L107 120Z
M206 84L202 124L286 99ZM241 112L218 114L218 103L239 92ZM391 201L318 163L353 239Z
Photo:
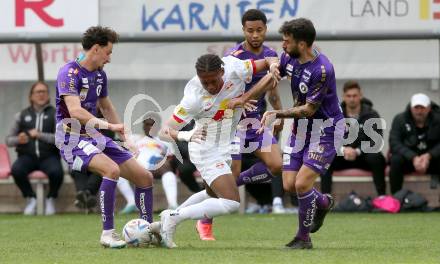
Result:
M246 133L238 131L232 142L232 160L241 160L243 153L253 153L257 150L270 151L273 144L277 144L276 138L270 133L257 134L257 129L248 129Z

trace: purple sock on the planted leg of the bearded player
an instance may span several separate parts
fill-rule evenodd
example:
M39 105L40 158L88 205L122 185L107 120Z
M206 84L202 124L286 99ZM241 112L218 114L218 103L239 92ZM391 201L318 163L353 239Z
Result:
M308 192L298 194L299 228L298 232L296 233L296 237L304 241L310 240L310 226L313 223L313 217L315 216L316 212L316 199L317 196L313 189Z

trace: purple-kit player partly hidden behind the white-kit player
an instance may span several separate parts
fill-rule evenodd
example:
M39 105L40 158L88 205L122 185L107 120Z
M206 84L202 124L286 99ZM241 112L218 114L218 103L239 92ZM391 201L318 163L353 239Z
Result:
M258 9L247 10L242 18L243 34L245 41L236 45L229 50L225 56L231 55L240 60L259 60L264 58L278 58L276 51L263 45L267 31L266 15ZM278 60L278 59L276 59ZM249 91L263 76L265 72L259 72L252 76L252 81L246 84L246 91ZM281 109L281 100L279 98L277 88L271 89L270 102L274 109ZM237 179L237 185L241 186L247 183L267 182L273 176L281 174L282 160L281 151L277 145L277 140L270 135L268 142L263 142L263 135L257 134L256 131L260 127L260 119L266 109L265 93L261 94L256 103L255 111L245 111L242 120L246 119L248 128L246 130L237 131L232 148L232 174ZM275 127L274 134L283 127L281 123ZM253 144L250 145L250 144ZM257 162L251 168L241 173L241 158L244 146L249 146L244 151L254 153L261 162ZM266 148L262 151L262 148ZM196 223L196 230L201 240L215 240L212 233L212 218L204 218Z

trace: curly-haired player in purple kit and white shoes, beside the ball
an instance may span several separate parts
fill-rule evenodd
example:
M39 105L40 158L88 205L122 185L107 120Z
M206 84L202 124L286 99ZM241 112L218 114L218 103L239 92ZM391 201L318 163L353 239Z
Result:
M137 163L129 151L96 129L107 128L125 141L124 125L108 96L107 76L118 34L110 28L90 27L83 34L83 56L64 65L57 77L57 146L72 170L92 171L103 177L99 202L104 247L122 248L126 243L115 232L113 217L115 189L119 176L136 185L135 201L140 217L152 222L152 175ZM97 109L105 120L96 118Z

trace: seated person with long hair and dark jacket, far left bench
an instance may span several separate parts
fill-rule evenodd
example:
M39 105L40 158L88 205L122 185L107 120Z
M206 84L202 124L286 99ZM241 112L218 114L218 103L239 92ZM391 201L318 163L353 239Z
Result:
M35 214L36 198L28 174L41 170L49 177L46 215L55 214L55 201L63 183L63 168L55 146L55 108L50 105L49 87L36 82L29 92L30 106L15 116L6 144L15 147L17 160L12 165L14 181L27 199L25 215Z

